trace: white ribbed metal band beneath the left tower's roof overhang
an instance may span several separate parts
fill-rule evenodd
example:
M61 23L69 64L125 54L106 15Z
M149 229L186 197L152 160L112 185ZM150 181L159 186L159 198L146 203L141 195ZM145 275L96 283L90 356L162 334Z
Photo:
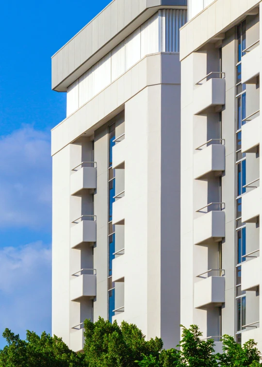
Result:
M204 1L211 3L213 0ZM186 10L159 10L67 88L66 116L91 100L145 55L159 51L179 52L179 29L186 21Z

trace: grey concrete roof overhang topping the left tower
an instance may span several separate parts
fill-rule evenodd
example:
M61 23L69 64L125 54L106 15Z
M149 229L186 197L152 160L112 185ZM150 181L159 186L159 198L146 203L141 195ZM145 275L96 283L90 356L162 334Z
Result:
M66 92L68 85L163 8L185 9L187 0L113 0L52 56L52 89Z

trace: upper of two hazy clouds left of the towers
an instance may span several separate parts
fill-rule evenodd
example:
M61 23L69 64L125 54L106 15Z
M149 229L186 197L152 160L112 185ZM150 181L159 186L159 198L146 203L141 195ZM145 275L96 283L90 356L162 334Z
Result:
M49 135L24 125L0 136L0 227L50 227Z

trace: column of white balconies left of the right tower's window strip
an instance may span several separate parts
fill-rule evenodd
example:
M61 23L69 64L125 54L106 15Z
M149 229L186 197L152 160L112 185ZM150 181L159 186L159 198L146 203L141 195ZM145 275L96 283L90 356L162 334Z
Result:
M225 104L225 79L212 78L208 74L197 83L194 90L194 115L207 115L219 112ZM207 80L205 83L203 81ZM202 83L202 84L200 84ZM199 86L198 86L199 85ZM225 140L216 138L196 148L193 160L193 177L195 180L209 181L221 176L225 171ZM210 202L197 210L199 215L194 219L194 245L209 245L220 242L225 237L225 205L222 202ZM201 214L201 215L200 215ZM225 302L225 273L222 269L210 269L197 275L194 287L195 308L207 309L221 306ZM221 342L216 342L216 349L221 349Z

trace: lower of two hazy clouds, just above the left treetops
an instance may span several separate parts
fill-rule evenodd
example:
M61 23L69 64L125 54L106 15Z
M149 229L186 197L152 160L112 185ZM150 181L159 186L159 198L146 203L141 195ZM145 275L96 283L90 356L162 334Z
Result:
M51 325L51 249L42 242L0 249L0 334L25 337ZM5 340L0 338L0 348Z

